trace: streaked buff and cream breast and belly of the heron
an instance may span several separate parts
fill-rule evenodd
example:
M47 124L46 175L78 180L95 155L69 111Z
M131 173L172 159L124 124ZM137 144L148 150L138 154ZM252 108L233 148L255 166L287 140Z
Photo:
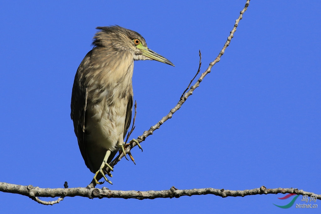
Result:
M115 57L98 60L100 66L92 67L95 72L83 75L88 92L86 143L107 150L115 150L117 142L123 141L127 104L133 95L133 57L126 53L118 60Z

